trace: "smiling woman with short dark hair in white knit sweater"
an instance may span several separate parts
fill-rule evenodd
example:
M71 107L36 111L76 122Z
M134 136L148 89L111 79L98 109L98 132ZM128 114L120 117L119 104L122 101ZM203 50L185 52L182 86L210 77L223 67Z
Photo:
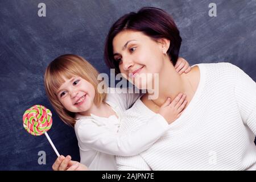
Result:
M105 59L139 89L148 90L125 112L119 132L132 133L158 113L166 97L182 92L187 105L167 133L140 155L117 158L119 170L256 169L256 84L229 63L194 65L178 75L174 65L181 38L166 12L145 7L117 20L109 31ZM129 74L129 73L136 73ZM152 100L149 96L159 92Z

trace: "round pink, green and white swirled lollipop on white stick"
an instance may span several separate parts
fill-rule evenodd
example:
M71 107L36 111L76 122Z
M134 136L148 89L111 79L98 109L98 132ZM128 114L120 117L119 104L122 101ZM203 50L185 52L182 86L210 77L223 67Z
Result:
M47 131L52 127L52 113L42 105L34 105L23 114L24 129L34 136L45 134L57 156L60 156Z

